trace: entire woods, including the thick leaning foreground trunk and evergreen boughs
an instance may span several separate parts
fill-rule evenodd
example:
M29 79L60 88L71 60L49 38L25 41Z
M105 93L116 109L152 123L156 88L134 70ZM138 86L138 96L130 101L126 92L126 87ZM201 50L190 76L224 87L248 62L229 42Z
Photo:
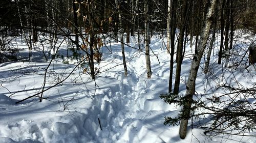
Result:
M83 73L88 73L94 80L99 73L95 65L102 62L101 48L105 46L112 53L111 47L106 46L106 43L114 40L121 43L124 76L129 73L125 57L125 47L129 47L145 54L147 78L151 78L151 55L155 55L155 53L151 53L150 43L154 35L159 35L159 40L163 40L165 43L166 54L170 55L169 79L166 83L169 86L166 89L167 94L160 97L166 103L176 103L183 107L177 118L166 117L164 124L180 123L180 137L185 138L188 120L200 116L194 114L193 111L197 107L202 107L212 111L212 119L215 121L211 128L206 129L205 134L219 129L225 124L231 129L237 129L239 125L236 125L235 122L241 120L250 121L250 124L241 127L241 130L250 130L255 129L256 124L254 119L248 117L253 114L253 108L239 108L239 106L240 112L234 112L234 109L227 108L211 109L203 102L193 100L196 95L197 73L203 56L206 59L204 73L212 72L209 69L210 56L217 35L220 35L218 64L222 64L225 68L243 66L246 69L248 68L247 64L255 63L255 41L251 41L252 44L248 46L248 49L244 49L247 50L246 57L247 53L250 54L248 58L244 58L245 55L239 55L240 61L233 62L233 65L228 64L228 60L231 60L229 57L236 59L238 55L231 52L236 45L234 40L236 31L252 36L256 34L256 1L2 0L0 2L0 63L30 62L33 56L31 50L36 45L40 45L43 47L44 53L41 59L51 64L53 59L61 56L58 54L57 43L68 41L67 51L73 52L72 58L78 61L77 65L83 68ZM15 37L21 37L22 41L26 43L29 49L28 56L16 56L16 53L19 52L18 49L10 45ZM137 46L130 45L130 37L136 37ZM190 43L189 49L186 46L188 42ZM44 48L45 43L50 45L49 49ZM192 50L192 47L195 47L195 52L193 59L190 60L191 67L186 79L186 94L182 96L179 94L182 62L185 58L185 51ZM86 61L88 66L84 66ZM174 67L176 68L174 69ZM47 70L48 68L45 70L46 74ZM17 103L34 96L38 96L41 102L44 99L42 93L46 90L46 80L44 78L40 92ZM243 93L246 96L255 94L256 91L255 88L245 90L234 88L228 84L224 84L223 88L231 92ZM225 105L233 104L233 101L219 102ZM246 115L246 113L248 114ZM241 116L246 118L239 118ZM228 122L229 120L233 122Z

